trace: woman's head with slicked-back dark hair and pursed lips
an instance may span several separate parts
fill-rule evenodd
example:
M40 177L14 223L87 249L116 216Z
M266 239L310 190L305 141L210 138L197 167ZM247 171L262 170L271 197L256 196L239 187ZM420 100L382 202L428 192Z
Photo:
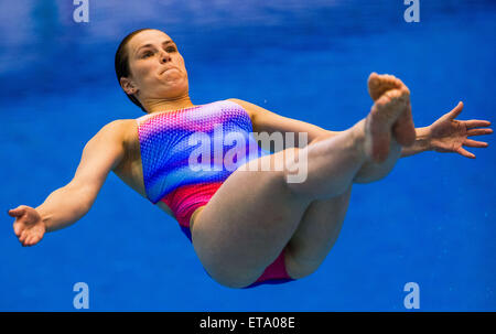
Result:
M140 29L127 35L117 49L115 66L120 86L144 112L150 103L188 95L184 58L160 30Z

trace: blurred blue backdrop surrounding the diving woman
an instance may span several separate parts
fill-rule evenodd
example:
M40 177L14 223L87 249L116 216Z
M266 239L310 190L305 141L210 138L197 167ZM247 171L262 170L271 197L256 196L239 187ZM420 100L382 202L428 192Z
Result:
M40 205L67 184L85 143L115 119L137 118L118 86L114 55L140 28L180 47L194 104L236 97L344 130L371 101L370 72L411 90L417 127L459 100L459 119L494 120L494 1L73 1L0 4L0 310L73 311L73 285L90 311L495 311L493 136L475 160L424 152L384 180L355 185L342 234L312 276L250 290L204 272L177 223L110 174L77 224L23 248L6 211Z

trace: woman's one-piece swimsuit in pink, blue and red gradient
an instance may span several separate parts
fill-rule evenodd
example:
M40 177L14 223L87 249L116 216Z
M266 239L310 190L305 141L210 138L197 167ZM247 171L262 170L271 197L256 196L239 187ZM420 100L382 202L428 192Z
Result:
M137 121L147 197L171 208L190 241L195 209L208 203L236 168L270 154L250 134L248 112L228 100L149 114ZM290 280L282 251L250 287Z

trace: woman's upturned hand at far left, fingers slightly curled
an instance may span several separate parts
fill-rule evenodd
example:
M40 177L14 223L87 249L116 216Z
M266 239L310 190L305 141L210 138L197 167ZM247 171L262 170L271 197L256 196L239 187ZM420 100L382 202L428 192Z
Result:
M40 214L31 206L20 205L9 209L9 216L14 217L13 230L22 246L33 246L43 239L46 231Z

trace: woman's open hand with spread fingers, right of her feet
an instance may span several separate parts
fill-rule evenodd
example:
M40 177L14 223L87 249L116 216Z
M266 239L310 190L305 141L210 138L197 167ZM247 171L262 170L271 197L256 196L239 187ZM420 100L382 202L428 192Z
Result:
M443 115L429 127L430 147L436 152L454 152L475 159L475 154L466 151L462 146L487 148L487 142L475 141L467 137L489 134L493 133L493 130L489 128L474 129L490 126L490 122L487 120L456 120L455 118L462 112L462 109L463 103L459 103L453 110Z

